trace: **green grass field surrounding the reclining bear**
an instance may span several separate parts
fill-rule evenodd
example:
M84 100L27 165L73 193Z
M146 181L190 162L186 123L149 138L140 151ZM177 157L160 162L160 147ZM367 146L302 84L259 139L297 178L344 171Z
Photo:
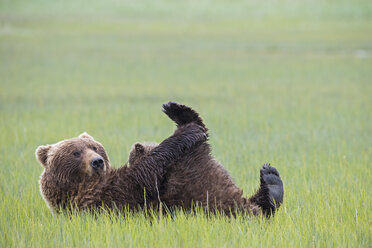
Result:
M372 2L0 0L0 247L372 247ZM87 131L114 166L198 110L270 220L52 216L38 145Z

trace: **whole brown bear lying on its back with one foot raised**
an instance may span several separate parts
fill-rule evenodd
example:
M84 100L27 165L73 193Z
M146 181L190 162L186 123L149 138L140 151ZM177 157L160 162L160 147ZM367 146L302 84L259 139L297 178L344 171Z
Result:
M59 212L101 206L135 210L160 202L191 209L197 203L209 211L254 215L270 215L280 206L283 185L274 167L265 165L258 192L243 197L210 155L207 129L198 113L176 103L163 105L163 111L177 130L159 145L135 145L129 167L112 168L103 146L86 133L38 147L36 157L44 166L40 190L48 206ZM92 165L97 159L104 164L99 169Z

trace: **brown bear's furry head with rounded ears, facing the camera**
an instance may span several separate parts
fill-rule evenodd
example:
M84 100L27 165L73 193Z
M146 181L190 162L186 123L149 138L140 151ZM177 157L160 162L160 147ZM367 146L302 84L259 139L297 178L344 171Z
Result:
M110 169L105 149L87 133L39 146L35 155L44 167L40 191L52 210L67 203L81 187L97 181Z

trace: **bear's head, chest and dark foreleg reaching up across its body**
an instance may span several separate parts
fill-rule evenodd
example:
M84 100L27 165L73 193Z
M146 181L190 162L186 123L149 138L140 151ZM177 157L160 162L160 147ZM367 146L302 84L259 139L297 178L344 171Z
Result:
M103 146L87 133L39 146L36 157L44 167L40 191L55 213L72 208L143 208L146 202L156 202L168 167L206 139L200 125L184 125L136 166L118 169L110 166Z

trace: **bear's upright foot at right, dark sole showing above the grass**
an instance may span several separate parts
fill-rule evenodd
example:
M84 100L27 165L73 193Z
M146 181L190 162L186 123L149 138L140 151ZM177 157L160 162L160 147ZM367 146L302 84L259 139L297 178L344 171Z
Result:
M270 164L265 164L260 170L260 189L249 201L259 205L266 216L275 213L283 202L283 182L278 171Z

